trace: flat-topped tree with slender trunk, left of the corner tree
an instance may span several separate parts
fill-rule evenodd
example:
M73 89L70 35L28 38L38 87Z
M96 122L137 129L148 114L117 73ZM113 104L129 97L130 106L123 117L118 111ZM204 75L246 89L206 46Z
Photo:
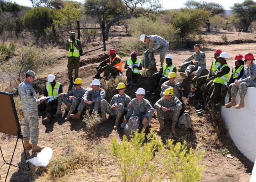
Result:
M225 10L224 10L223 6L220 3L216 3L216 2L206 2L206 1L198 2L196 0L188 0L188 1L186 1L185 5L188 8L191 8L194 10L195 9L208 10L210 12L211 17L214 15L225 14ZM207 31L210 31L210 19L206 18L205 23L207 25Z

